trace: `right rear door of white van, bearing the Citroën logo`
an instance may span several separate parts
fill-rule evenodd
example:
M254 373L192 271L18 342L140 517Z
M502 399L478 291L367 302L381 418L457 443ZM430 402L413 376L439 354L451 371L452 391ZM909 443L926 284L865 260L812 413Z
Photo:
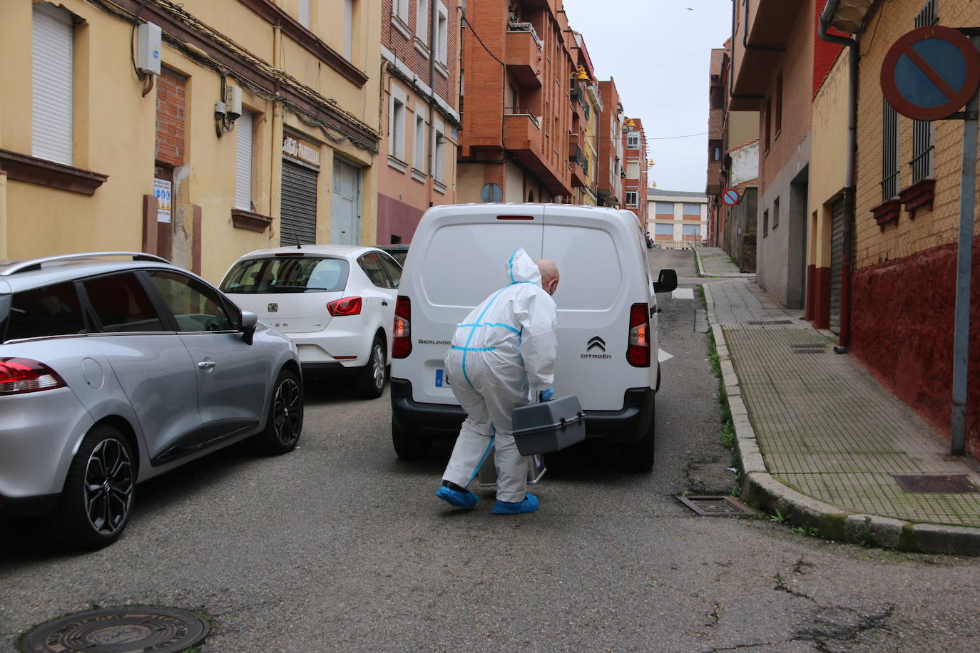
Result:
M577 395L586 410L619 410L627 388L653 378L651 368L626 359L630 307L647 302L649 283L635 226L608 211L564 205L548 206L544 224L542 257L561 275L555 392Z

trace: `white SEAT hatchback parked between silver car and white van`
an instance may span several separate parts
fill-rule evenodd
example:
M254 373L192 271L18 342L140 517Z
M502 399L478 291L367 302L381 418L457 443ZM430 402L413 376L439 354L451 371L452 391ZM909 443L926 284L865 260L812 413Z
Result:
M304 245L239 257L221 290L284 333L307 376L355 375L373 398L384 391L401 278L376 247Z

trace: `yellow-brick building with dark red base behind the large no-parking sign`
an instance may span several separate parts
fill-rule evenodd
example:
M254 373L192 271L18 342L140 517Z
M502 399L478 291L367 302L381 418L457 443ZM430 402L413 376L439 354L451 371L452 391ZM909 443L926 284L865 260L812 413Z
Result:
M963 124L913 120L885 101L880 70L915 27L980 24L956 0L832 2L830 23L856 41L857 170L854 271L845 285L845 344L886 388L952 435L954 314ZM845 59L841 55L840 59ZM840 65L840 64L839 64ZM975 156L975 153L974 153ZM980 188L973 199L980 201ZM974 216L965 450L980 458L980 214ZM965 353L963 355L966 355Z

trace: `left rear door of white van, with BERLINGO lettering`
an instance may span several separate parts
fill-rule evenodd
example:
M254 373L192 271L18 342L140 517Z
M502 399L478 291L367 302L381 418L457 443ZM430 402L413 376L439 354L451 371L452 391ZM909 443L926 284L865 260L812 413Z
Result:
M412 352L392 361L392 376L412 381L416 401L456 403L443 366L456 325L508 284L517 248L541 257L543 215L543 205L483 204L436 207L422 217L399 289L412 305Z

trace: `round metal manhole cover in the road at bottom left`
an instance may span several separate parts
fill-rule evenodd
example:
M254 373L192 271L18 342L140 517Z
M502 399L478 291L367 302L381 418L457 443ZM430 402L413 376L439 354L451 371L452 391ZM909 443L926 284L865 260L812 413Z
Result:
M208 622L172 608L131 608L82 612L49 622L24 638L37 653L174 653L198 644Z

